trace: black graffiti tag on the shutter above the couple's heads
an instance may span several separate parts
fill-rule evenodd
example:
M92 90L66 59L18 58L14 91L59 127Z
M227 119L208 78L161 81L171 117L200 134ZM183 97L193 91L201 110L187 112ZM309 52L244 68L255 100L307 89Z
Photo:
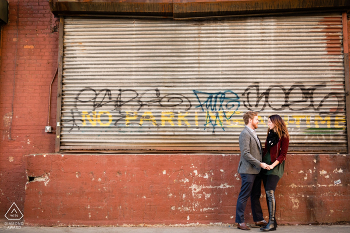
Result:
M318 84L311 86L309 88L306 88L304 85L292 85L289 89L284 88L282 85L271 85L268 87L268 89L262 93L260 93L259 89L259 83L254 83L250 86L248 86L245 90L242 96L246 96L246 102L243 101L244 107L246 107L250 111L263 111L266 106L270 107L274 111L282 111L284 109L289 109L291 111L304 111L304 110L314 110L314 111L319 111L321 107L323 106L324 101L326 101L329 98L334 98L336 97L336 102L337 104L333 106L334 111L328 111L328 112L319 112L319 114L335 114L340 111L341 107L340 104L344 99L344 95L342 93L338 92L330 92L326 94L323 99L319 102L319 104L315 104L313 100L313 92L317 88L324 88L326 85L324 84ZM280 107L276 108L271 106L269 103L269 94L271 89L273 88L279 88L280 90L283 91L284 93L284 104L282 104ZM300 100L295 100L291 101L289 100L289 95L293 90L299 89L302 93L302 98ZM249 95L254 95L256 96L256 99L251 99L249 98ZM264 100L263 100L264 98ZM264 101L262 107L258 107L260 101ZM297 104L300 105L300 103L304 103L308 105L305 107L300 107Z

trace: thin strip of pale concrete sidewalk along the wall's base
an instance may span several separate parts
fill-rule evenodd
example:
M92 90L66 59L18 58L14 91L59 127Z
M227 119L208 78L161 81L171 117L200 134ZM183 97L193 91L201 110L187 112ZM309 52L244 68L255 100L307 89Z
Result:
M212 227L21 227L7 229L1 225L0 232L6 233L243 233L260 232L259 228L241 231L233 226ZM332 226L278 226L279 233L349 233L350 225Z

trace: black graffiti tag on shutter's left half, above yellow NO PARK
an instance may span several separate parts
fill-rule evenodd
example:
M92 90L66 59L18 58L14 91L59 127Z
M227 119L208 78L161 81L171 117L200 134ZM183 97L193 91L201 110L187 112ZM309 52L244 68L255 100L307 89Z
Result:
M92 98L86 100L82 97L85 94L92 94ZM131 97L127 97L126 94ZM144 97L145 94L147 94L148 97ZM152 97L149 97L149 95ZM86 103L89 105L90 108L87 111L88 114L91 114L93 111L97 111L106 105L112 104L113 107L109 112L115 111L119 115L115 120L114 125L117 125L120 120L126 118L126 113L123 107L127 103L132 103L131 105L137 108L134 110L135 112L140 111L146 105L158 105L158 107L161 108L179 107L180 109L178 109L178 112L188 111L192 106L190 100L181 94L171 93L161 96L158 88L147 89L141 94L138 94L137 91L132 89L119 89L116 98L113 98L112 92L107 88L97 92L90 87L85 87L76 94L74 108L70 110L71 119L63 121L64 123L72 124L71 128L68 130L69 133L73 127L77 127L78 130L80 130L80 127L76 122L82 122L82 120L75 119L74 117L74 113L75 116L81 114L81 111L78 109L78 103Z

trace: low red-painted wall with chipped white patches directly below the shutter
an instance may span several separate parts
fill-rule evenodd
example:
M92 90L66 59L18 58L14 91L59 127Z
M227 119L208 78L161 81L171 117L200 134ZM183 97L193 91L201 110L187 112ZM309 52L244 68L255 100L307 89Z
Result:
M39 177L26 185L28 225L234 223L239 155L40 154L25 161L27 175ZM349 155L287 155L277 222L349 221L349 165ZM268 220L265 197L260 202ZM250 213L248 202L251 223Z

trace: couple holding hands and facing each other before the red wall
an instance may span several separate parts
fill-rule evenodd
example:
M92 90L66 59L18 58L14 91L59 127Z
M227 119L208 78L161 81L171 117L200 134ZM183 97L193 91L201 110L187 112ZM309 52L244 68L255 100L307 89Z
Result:
M241 155L238 164L242 185L236 205L235 222L238 223L238 229L250 230L244 223L244 210L250 196L251 213L255 222L255 226L252 227L261 227L260 230L265 232L274 231L277 227L274 191L284 172L284 160L289 145L288 130L279 115L269 116L267 138L265 147L262 149L261 142L255 132L259 123L257 112L246 112L243 115L243 120L246 127L239 135ZM261 180L266 193L268 223L262 217L259 201Z

